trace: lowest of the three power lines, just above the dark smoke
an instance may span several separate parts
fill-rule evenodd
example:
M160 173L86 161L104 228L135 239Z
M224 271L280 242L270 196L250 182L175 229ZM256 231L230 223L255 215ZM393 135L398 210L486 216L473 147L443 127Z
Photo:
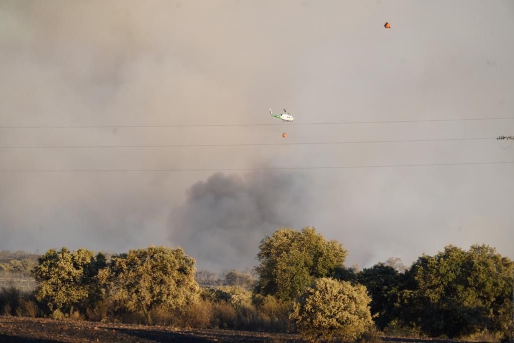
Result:
M397 167L429 167L452 165L484 165L514 164L514 161L499 162L463 162L463 163L427 163L427 164L384 164L384 165L352 165L325 167L269 167L269 168L193 168L193 169L0 169L4 173L68 173L68 172L246 172L259 170L307 170L307 169L349 169L349 168L397 168Z

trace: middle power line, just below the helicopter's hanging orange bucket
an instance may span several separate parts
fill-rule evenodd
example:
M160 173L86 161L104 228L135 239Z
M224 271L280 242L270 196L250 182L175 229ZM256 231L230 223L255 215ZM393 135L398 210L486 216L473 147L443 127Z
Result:
M2 149L45 149L45 148L165 148L165 147L211 147L211 146L273 146L273 145L328 145L328 144L374 144L374 143L413 143L492 140L494 137L447 138L447 139L411 139L388 141L342 141L342 142L306 142L306 143L243 143L243 144L156 144L156 145L4 145Z

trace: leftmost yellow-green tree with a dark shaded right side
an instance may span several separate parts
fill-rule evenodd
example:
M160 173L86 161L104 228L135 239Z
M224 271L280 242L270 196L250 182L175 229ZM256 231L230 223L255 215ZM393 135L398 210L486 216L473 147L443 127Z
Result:
M86 249L51 249L32 270L32 276L39 282L36 299L53 313L69 314L74 309L94 307L102 295L97 275L104 267L102 254L95 257Z

